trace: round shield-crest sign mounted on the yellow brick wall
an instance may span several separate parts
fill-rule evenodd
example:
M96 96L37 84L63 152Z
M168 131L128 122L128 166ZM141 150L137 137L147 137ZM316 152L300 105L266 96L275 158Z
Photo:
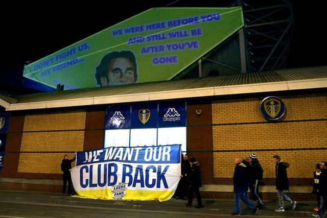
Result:
M276 96L269 96L262 100L260 104L262 116L268 120L279 120L283 118L286 106L284 102Z

